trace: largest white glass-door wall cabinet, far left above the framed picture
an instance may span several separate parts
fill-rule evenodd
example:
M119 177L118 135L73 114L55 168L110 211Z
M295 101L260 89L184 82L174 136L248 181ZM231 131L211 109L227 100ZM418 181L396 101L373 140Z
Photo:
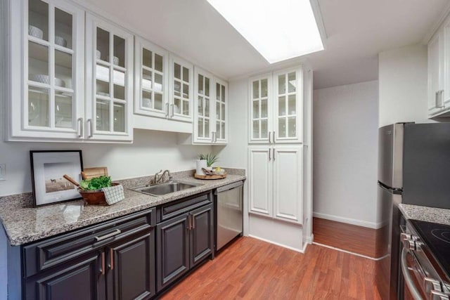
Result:
M131 141L133 36L70 1L8 4L6 140Z

